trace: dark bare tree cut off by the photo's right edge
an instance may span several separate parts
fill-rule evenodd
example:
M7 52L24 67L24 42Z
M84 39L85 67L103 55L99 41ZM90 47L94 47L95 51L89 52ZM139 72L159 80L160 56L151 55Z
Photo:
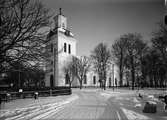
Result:
M160 87L163 87L164 84L167 86L167 81L165 80L167 76L167 27L163 23L159 23L159 29L153 33L152 46L159 53L160 58L158 61L159 66L157 66L159 68Z

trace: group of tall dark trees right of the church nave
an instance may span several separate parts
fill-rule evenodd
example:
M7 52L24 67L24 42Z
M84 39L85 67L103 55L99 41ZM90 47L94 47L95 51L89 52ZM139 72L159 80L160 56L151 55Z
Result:
M119 66L120 86L126 76L127 84L149 87L165 87L167 78L167 29L153 33L151 42L144 42L137 33L120 36L112 45L112 53Z

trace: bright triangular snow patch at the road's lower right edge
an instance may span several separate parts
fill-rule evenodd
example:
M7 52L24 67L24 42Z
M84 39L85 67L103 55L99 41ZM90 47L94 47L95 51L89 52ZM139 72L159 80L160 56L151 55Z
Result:
M126 108L122 108L122 111L124 112L124 114L126 115L126 117L128 118L128 120L150 120L149 117L136 113L132 110L128 110Z

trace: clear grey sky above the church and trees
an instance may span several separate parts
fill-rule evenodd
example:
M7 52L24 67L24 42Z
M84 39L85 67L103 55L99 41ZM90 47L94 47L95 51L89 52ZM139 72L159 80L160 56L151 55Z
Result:
M56 15L59 8L77 40L77 55L90 55L101 42L111 48L120 35L141 33L151 39L165 14L165 0L42 0Z

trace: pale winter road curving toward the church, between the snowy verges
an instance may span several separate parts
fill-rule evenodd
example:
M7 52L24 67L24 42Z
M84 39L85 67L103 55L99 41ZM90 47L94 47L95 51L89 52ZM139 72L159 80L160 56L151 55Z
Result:
M82 91L76 94L79 95L78 100L49 118L61 120L121 120L121 118L125 118L117 106L108 102L97 92Z

